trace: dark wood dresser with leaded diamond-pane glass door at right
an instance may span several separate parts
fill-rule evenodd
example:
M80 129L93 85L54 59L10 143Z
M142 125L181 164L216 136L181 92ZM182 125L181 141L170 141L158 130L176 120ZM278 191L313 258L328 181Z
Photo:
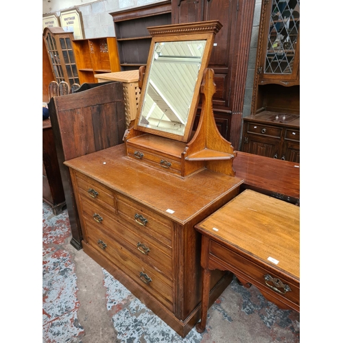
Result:
M244 118L241 150L300 162L300 5L264 1L252 110Z

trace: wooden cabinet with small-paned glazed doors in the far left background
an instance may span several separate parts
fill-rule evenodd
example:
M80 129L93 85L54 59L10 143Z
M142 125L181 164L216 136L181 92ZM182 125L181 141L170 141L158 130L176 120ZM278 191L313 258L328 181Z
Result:
M55 81L67 82L69 86L80 84L71 43L73 32L64 32L62 27L45 27L43 38Z

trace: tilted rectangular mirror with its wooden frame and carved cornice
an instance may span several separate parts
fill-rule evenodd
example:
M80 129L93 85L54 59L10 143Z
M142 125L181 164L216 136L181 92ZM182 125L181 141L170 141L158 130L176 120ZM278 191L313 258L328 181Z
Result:
M135 129L187 141L217 21L148 27L152 35Z

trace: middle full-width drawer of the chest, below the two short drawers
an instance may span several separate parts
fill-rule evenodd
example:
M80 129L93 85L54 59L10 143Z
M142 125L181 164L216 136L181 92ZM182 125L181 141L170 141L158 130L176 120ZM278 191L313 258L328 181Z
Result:
M155 237L150 237L144 230L137 229L126 221L121 222L115 213L108 213L97 204L92 204L87 198L82 201L83 216L97 230L110 233L117 241L137 258L161 272L170 279L172 274L171 247ZM88 237L88 232L86 233Z

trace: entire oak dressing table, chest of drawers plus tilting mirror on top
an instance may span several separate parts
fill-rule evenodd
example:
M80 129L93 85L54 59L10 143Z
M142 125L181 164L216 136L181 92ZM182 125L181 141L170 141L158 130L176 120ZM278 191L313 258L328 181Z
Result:
M84 251L182 337L200 319L201 235L194 226L244 182L233 170L237 152L213 118L215 84L206 66L221 26L149 27L139 108L124 143L64 162ZM230 272L213 273L210 303L231 280Z

